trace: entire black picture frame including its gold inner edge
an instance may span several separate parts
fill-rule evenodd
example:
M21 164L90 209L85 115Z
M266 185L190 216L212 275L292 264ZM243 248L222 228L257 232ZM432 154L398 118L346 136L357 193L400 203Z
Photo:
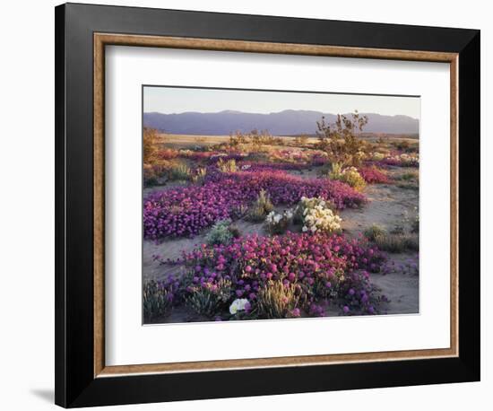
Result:
M450 346L108 367L104 310L108 45L449 64ZM477 380L480 31L92 4L56 7L57 405L91 407Z

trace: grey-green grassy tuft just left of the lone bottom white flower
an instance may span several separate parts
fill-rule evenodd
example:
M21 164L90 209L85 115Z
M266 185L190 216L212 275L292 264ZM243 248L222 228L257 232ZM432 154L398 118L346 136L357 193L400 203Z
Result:
M232 295L231 282L225 279L215 283L192 284L186 291L186 305L206 317L212 317L224 310Z

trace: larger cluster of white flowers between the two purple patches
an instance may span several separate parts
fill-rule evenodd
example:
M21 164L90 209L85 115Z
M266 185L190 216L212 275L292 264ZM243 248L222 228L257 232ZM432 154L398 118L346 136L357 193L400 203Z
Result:
M301 197L303 232L335 232L341 229L342 219L322 198Z

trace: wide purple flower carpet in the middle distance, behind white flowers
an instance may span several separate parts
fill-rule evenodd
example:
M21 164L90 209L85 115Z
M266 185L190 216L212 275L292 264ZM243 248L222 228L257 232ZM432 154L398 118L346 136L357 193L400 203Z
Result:
M282 171L208 172L203 185L157 191L143 203L144 238L191 236L218 220L236 218L264 189L274 205L322 197L337 208L362 206L366 197L330 179L302 179Z

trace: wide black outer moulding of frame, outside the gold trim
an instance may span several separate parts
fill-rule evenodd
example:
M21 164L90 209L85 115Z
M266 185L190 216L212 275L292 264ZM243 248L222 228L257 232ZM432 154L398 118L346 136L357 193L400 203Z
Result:
M458 230L459 355L95 378L95 32L458 53L458 185L464 205ZM63 4L56 7L55 41L56 404L88 407L480 380L480 31Z

